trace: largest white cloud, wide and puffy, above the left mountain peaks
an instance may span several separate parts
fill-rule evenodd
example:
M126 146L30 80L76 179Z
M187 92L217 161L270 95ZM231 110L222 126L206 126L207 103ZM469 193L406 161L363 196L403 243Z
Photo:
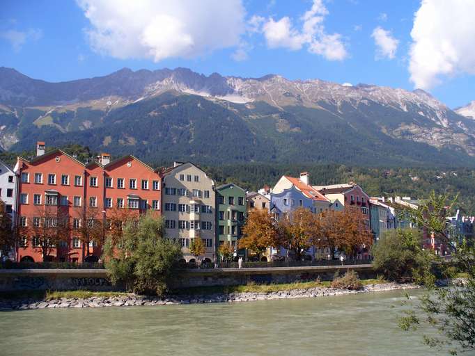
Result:
M241 0L77 0L91 47L116 58L193 58L235 47L245 31Z

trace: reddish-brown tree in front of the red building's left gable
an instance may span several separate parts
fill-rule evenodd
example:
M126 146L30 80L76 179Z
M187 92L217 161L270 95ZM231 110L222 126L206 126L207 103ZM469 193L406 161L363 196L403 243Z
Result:
M38 207L28 227L22 227L20 234L30 236L33 248L39 250L43 261L48 261L49 255L61 242L67 242L70 236L70 217L61 207L45 205Z

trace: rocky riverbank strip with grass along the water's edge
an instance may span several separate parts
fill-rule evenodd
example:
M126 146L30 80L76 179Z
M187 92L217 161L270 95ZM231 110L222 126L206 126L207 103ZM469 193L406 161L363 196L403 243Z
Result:
M251 290L253 286L250 286ZM366 284L359 291L348 289L335 289L329 286L314 286L306 289L283 289L278 290L279 285L272 285L269 291L231 291L230 293L200 293L189 291L166 298L137 296L130 293L93 293L77 291L78 296L66 298L66 293L53 292L49 298L38 300L33 296L22 298L1 298L0 311L24 310L24 309L53 309L53 308L98 308L98 307L132 307L141 305L180 305L194 303L216 302L250 302L255 300L276 300L288 298L318 298L326 296L342 296L346 294L371 293L381 291L396 291L403 289L419 288L416 284L376 283ZM196 293L198 292L198 293ZM56 297L55 297L56 296Z

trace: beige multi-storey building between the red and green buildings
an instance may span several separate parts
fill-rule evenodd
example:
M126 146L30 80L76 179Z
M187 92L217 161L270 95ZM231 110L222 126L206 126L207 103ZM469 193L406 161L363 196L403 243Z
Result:
M215 261L215 182L193 163L173 163L164 171L162 215L165 236L179 241L187 262L196 262L189 253L193 238L202 238L203 261Z

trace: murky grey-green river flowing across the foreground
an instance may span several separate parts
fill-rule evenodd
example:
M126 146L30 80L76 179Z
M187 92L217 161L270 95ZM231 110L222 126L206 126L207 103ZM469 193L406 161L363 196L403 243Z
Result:
M0 355L435 355L421 334L398 329L403 300L390 291L0 312Z

